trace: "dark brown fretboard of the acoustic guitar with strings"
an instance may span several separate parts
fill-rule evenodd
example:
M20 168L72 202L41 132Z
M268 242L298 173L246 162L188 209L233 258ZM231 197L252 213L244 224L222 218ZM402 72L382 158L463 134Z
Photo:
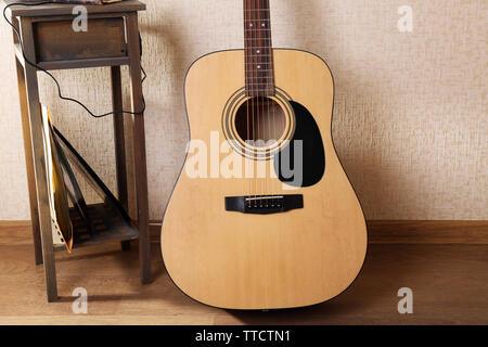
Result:
M269 0L244 0L244 51L248 97L274 94Z

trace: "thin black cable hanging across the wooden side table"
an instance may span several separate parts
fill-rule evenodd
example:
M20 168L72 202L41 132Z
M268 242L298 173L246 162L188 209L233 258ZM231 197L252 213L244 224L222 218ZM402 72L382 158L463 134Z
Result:
M144 95L142 95L142 110L141 110L140 112L130 112L130 111L124 111L124 110L123 110L123 111L113 111L113 112L108 112L108 113L105 113L105 114L102 114L102 115L95 115L95 114L94 114L93 112L91 112L91 111L90 111L82 102L80 102L80 101L78 101L78 100L76 100L76 99L73 99L73 98L63 97L63 94L62 94L62 92L61 92L61 86L60 86L60 82L57 81L57 79L56 79L50 72L48 72L47 69L40 67L39 65L37 65L37 64L30 62L30 61L27 59L27 56L25 56L25 53L24 53L24 42L22 41L22 36L21 36L21 34L18 33L17 28L16 28L16 27L12 24L12 22L10 22L9 18L7 17L7 10L8 10L10 7L13 7L13 5L38 7L38 5L41 5L41 4L50 4L50 3L56 3L56 4L59 4L59 2L53 2L53 1L42 1L42 2L13 2L13 3L10 3L10 4L5 5L5 8L3 9L3 18L4 18L5 22L9 23L9 25L13 28L13 30L14 30L14 33L15 33L17 39L18 39L18 43L20 43L20 46L21 46L22 56L24 57L24 61L25 61L27 64L29 64L30 66L33 66L33 67L35 67L35 68L37 68L37 69L43 72L43 73L47 74L49 77L51 77L51 79L54 81L54 83L55 83L56 87L57 87L57 95L60 97L60 99L65 100L65 101L70 101L70 102L77 103L77 104L80 105L82 108L85 108L85 111L87 111L87 112L90 114L90 116L92 116L92 117L94 117L94 118L102 118L102 117L106 117L106 116L114 115L114 114L140 115L140 114L144 113L144 111L145 111L145 100L144 100ZM142 43L140 42L140 44L142 44ZM141 54L142 54L142 50L141 50ZM145 80L145 78L147 77L147 75L145 74L145 72L144 72L144 69L142 68L142 66L141 66L141 70L142 70L142 73L144 74L144 77L143 77L142 80L141 80L141 83L143 83L144 80Z

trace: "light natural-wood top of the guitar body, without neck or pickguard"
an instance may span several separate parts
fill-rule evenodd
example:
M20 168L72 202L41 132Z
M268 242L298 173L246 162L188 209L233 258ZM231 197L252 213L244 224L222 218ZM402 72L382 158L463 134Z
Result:
M249 179L190 178L194 163L189 154L165 211L162 250L169 277L187 295L215 307L281 309L323 303L351 284L367 252L363 213L332 139L332 74L308 52L274 49L273 59L277 91L287 100L285 128L292 138L300 132L306 142L307 172L300 187L278 177L258 182L273 188L273 196L300 195L303 207L273 214L227 210L226 197L247 195ZM244 66L243 50L211 53L192 65L185 101L193 140L210 147L211 131L220 141L228 139L226 110L245 85ZM242 157L234 152L231 147ZM317 158L307 157L310 153ZM219 159L228 155L221 153ZM275 159L268 159L270 167ZM208 168L211 160L208 154Z

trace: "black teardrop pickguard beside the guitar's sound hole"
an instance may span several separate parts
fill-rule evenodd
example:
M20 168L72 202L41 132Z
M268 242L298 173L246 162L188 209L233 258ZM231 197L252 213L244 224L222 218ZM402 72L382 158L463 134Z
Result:
M325 151L322 137L310 112L297 102L290 101L290 104L295 112L295 133L290 144L274 156L274 171L280 181L288 185L311 187L317 184L325 172ZM295 170L293 163L295 163L296 140L300 140L303 143L301 179L292 175ZM290 172L286 172L287 168L290 168Z

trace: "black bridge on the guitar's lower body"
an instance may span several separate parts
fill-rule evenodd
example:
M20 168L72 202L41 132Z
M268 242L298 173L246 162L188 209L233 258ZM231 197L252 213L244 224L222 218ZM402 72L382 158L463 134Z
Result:
M253 215L271 215L304 208L304 195L227 196L226 210Z

